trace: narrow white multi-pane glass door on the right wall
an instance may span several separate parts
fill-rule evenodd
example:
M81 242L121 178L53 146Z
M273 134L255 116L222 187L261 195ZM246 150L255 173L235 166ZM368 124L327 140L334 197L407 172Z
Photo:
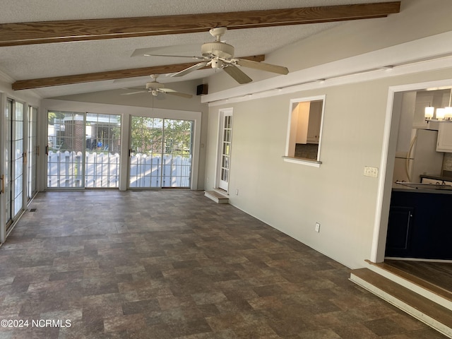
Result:
M220 111L220 133L218 133L217 184L218 188L227 191L232 148L232 109Z

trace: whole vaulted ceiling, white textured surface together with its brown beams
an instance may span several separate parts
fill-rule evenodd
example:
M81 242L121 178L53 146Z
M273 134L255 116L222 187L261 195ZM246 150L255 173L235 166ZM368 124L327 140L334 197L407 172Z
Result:
M55 97L144 85L150 74L181 71L198 62L186 57L200 55L201 44L213 41L210 28L227 27L222 39L234 45L236 57L263 61L275 49L346 20L398 13L400 1L4 0L1 9L0 71L13 90Z

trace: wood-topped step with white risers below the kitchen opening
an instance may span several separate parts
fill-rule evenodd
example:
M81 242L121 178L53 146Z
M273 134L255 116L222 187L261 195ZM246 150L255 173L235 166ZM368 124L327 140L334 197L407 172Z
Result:
M396 268L370 264L352 270L350 280L452 338L452 295L427 282L417 282Z

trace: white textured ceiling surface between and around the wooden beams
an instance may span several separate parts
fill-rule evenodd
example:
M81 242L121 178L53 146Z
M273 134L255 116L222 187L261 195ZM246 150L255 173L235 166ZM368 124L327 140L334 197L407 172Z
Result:
M2 0L0 23L90 18L125 18L135 16L168 16L191 13L251 11L273 8L296 8L340 4L362 4L387 0ZM340 23L316 23L272 28L228 30L222 40L235 47L235 56L268 54L275 49L302 40ZM69 76L162 64L182 64L187 59L144 57L145 50L182 55L199 55L203 42L212 41L208 32L131 37L112 40L28 44L0 47L0 71L12 81ZM138 51L137 51L138 49ZM161 76L162 83L187 81L213 74L213 70L195 71L184 78ZM97 81L35 89L42 97L56 97L115 88L144 85L148 77L121 81Z

